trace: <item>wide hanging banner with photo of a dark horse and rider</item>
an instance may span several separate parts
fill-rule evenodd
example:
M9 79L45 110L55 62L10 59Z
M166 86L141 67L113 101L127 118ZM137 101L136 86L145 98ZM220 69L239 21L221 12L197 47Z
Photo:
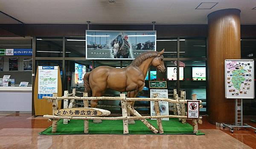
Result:
M156 31L86 30L86 59L135 59L156 51Z

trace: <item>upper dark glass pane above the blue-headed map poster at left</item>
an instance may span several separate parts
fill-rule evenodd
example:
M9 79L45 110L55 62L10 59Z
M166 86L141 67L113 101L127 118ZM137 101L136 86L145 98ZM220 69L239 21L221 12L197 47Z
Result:
M37 57L62 57L63 41L61 38L36 38Z

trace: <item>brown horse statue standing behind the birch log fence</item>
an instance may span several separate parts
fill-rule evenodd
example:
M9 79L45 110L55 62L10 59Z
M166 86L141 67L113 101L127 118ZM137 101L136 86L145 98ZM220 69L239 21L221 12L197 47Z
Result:
M137 93L145 86L145 77L148 68L152 65L157 71L163 73L166 68L163 64L163 52L147 51L137 56L130 65L125 68L114 68L99 66L84 75L84 92L88 96L99 97L105 94L110 88L119 92L127 92L127 97L136 97ZM99 100L91 100L91 107L96 107ZM128 102L132 107L135 101ZM130 111L128 116L130 116ZM93 120L94 123L101 123L101 120ZM134 124L134 120L129 124Z

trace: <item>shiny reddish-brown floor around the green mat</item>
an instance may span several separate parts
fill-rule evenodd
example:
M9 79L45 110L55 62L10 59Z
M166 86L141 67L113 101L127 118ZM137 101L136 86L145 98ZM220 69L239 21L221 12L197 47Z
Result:
M189 121L191 123L191 121ZM249 123L249 121L248 121ZM203 118L199 129L205 135L38 135L51 125L41 116L29 113L0 112L0 149L256 149L256 134L252 129L221 130ZM256 123L250 122L256 127Z

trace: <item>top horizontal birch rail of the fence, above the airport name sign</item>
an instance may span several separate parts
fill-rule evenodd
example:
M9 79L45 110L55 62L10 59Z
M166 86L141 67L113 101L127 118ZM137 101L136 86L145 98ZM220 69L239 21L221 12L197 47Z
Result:
M48 97L44 96L44 99L48 99L48 102L60 101L64 99L76 99L76 100L122 100L122 101L167 101L175 104L186 104L188 100L174 100L169 98L122 98L122 97ZM198 100L202 104L201 100Z

